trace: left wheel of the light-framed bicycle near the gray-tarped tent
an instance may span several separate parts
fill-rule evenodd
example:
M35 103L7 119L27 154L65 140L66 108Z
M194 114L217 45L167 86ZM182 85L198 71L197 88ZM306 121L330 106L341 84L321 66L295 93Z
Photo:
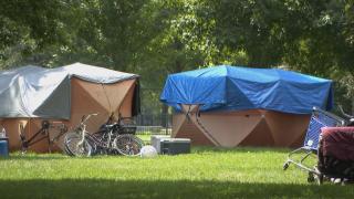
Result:
M70 156L91 156L92 146L91 144L84 139L76 132L67 133L64 138L64 149L65 153Z

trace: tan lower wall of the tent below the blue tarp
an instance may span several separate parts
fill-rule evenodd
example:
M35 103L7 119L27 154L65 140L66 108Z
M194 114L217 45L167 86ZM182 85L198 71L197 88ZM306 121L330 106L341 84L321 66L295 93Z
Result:
M173 137L188 137L194 145L296 147L310 121L310 115L264 109L198 114L197 108L192 106L187 116L184 105L184 113L174 115Z

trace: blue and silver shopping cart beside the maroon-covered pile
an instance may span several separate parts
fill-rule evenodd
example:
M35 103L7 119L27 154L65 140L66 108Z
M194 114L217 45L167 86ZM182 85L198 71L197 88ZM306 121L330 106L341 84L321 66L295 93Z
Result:
M288 155L288 159L283 165L283 169L287 170L290 164L294 164L295 166L304 169L309 172L316 172L314 169L309 168L304 165L304 160L312 154L317 154L319 150L319 138L321 134L322 127L335 127L335 126L344 126L345 121L336 115L333 115L329 112L322 111L317 107L313 107L309 128L306 132L306 136L303 143L303 146L291 151ZM301 155L304 153L303 155ZM293 157L295 155L301 155L300 161L295 160ZM308 179L311 180L311 179Z

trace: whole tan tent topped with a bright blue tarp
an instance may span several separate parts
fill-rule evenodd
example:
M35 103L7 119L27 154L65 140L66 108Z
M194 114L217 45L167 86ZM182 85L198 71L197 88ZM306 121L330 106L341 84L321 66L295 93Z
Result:
M175 109L173 137L222 147L300 146L312 107L332 98L329 80L225 65L171 74L160 96Z

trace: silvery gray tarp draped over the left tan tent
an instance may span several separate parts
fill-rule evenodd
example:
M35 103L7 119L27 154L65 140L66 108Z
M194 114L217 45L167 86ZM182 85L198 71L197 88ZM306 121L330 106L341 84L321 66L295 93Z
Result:
M75 63L43 69L28 65L0 72L0 117L70 118L71 78L111 84L137 75Z

